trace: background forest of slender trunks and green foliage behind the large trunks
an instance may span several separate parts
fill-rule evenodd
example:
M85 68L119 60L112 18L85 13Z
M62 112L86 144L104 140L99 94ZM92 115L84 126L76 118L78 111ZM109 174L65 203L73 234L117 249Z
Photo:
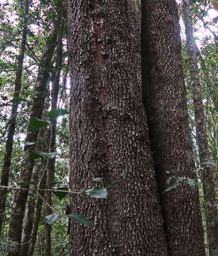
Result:
M143 1L137 2L143 9ZM163 191L174 193L184 184L198 187L209 256L218 255L217 9L217 1L178 1L197 178L169 174ZM70 136L79 135L72 128L69 132L69 113L74 110L68 58L71 32L62 1L0 0L0 255L74 255L69 252L70 223L89 229L94 219L87 218L89 213L72 214L72 193L107 201L113 190L114 184L103 183L99 175L90 177L92 185L85 182L83 191L72 191Z

